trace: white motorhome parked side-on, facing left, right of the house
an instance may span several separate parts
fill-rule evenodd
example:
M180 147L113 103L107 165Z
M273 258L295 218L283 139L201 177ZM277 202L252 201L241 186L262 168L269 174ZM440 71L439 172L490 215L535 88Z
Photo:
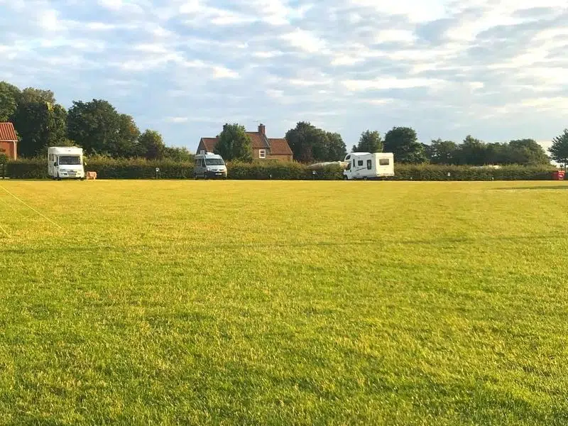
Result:
M378 179L395 175L393 153L349 153L345 157L347 167L344 180Z

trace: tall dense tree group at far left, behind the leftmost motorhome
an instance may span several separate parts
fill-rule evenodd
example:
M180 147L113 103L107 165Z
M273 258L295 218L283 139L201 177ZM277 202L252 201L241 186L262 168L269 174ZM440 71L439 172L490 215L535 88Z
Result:
M65 109L51 90L0 82L0 121L13 123L24 158L43 156L48 146L80 146L87 155L192 159L187 148L165 146L158 131L141 132L132 116L103 99L74 101Z

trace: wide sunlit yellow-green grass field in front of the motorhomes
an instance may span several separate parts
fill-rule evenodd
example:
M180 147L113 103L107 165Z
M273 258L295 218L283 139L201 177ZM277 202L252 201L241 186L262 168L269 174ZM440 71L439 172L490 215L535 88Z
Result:
M0 181L0 424L566 425L567 195Z

